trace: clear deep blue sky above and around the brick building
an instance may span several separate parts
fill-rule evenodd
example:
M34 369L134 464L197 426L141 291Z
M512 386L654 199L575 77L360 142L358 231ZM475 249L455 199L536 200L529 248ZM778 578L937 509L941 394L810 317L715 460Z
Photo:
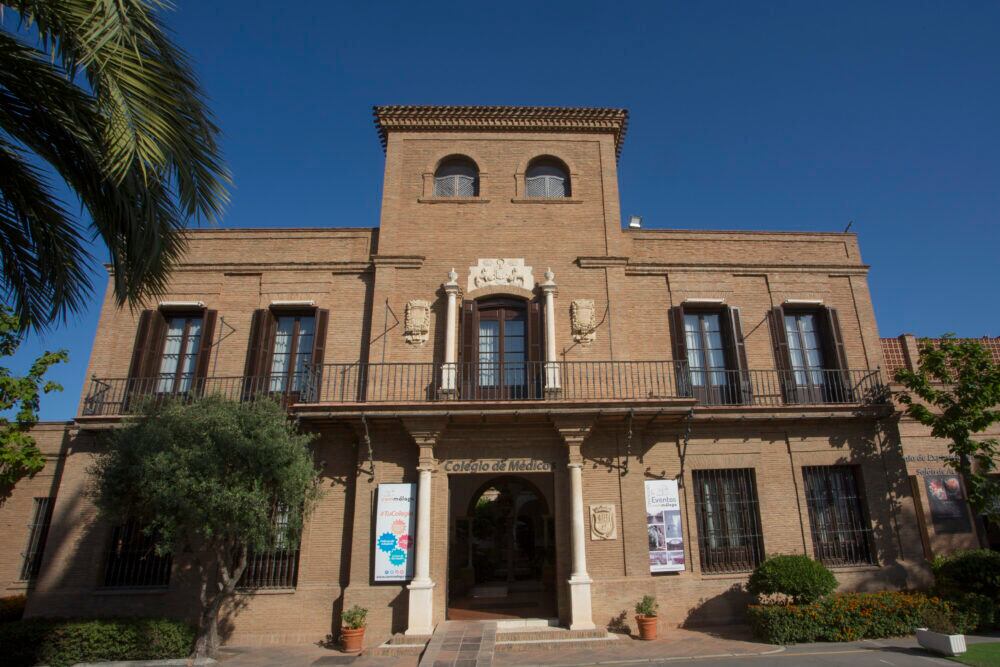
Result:
M377 225L373 104L627 107L624 214L854 220L883 335L1000 334L1000 3L176 4L225 133L227 227ZM69 349L45 419L76 410L104 280L15 360Z

